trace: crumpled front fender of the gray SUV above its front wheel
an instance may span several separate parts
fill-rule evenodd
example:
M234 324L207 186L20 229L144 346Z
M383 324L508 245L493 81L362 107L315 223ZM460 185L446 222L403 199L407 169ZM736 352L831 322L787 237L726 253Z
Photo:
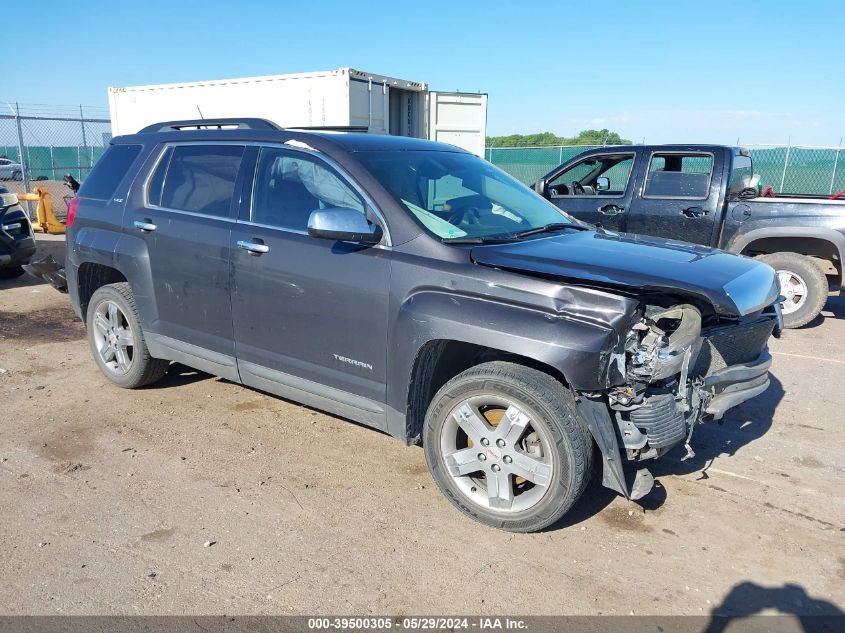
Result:
M399 310L390 336L387 404L397 417L389 430L417 441L434 393L489 360L539 369L576 390L606 389L614 383L610 350L621 337L615 327L619 320L598 324L486 298L418 293Z

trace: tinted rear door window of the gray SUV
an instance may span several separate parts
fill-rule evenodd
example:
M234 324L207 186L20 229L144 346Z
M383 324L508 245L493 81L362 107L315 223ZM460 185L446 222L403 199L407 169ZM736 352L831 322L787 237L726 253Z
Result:
M159 162L148 200L158 206L218 218L229 217L244 148L240 145L177 145ZM160 170L163 175L160 177Z

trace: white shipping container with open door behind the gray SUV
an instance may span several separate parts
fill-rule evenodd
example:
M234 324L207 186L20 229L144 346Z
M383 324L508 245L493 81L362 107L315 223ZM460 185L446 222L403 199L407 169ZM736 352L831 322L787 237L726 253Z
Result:
M287 128L366 130L451 143L484 156L487 95L430 92L354 68L109 88L112 133L161 121L256 117Z

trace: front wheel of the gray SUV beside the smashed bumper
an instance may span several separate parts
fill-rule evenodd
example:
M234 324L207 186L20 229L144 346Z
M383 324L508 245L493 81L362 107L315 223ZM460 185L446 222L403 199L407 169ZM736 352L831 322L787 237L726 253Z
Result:
M592 440L572 394L513 363L477 365L447 382L429 406L423 444L455 506L512 532L557 521L592 473Z

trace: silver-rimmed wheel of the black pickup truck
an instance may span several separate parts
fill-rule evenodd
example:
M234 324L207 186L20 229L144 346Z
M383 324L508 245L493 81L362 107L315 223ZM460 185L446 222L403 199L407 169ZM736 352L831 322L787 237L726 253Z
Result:
M807 325L827 302L828 285L824 272L809 257L798 253L772 253L760 257L775 269L780 293L783 324L787 328Z

